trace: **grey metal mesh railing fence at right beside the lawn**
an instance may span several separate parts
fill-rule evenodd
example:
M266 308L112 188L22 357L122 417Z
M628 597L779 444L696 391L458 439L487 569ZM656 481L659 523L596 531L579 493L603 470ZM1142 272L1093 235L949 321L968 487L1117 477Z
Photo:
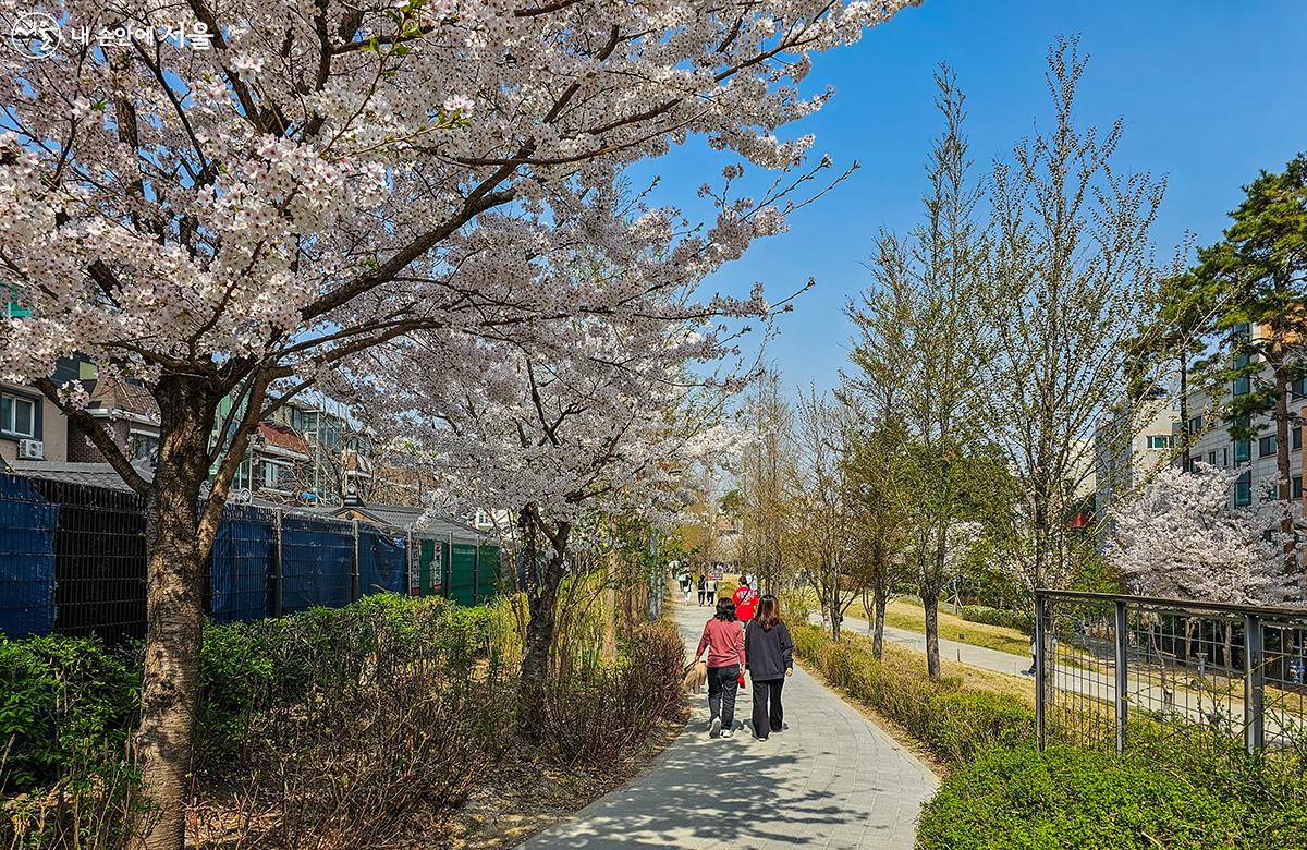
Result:
M1039 743L1196 731L1248 753L1307 743L1307 611L1035 591Z

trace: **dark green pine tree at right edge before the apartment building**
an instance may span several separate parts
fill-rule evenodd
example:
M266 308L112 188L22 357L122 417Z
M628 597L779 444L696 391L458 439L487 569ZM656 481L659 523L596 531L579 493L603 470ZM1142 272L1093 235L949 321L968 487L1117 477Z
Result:
M1225 238L1199 252L1193 276L1216 288L1217 330L1227 335L1239 390L1230 404L1231 434L1255 439L1257 420L1276 425L1278 496L1291 497L1290 432L1298 416L1289 400L1307 375L1307 154L1278 174L1263 171L1244 187ZM1269 373L1269 374L1266 374ZM1297 561L1291 520L1282 519L1283 558Z

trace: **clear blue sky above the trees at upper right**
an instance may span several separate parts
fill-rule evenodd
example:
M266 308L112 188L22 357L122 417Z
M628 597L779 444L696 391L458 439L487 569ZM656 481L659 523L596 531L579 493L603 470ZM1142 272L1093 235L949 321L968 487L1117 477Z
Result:
M1166 177L1154 229L1170 258L1187 230L1219 237L1239 187L1307 150L1307 0L925 0L844 50L814 56L805 85L835 86L819 114L786 129L814 133L813 153L853 177L791 220L789 233L755 243L716 275L737 293L754 281L789 292L817 288L780 320L769 358L793 392L835 383L851 328L846 299L868 281L861 265L878 228L907 230L919 213L923 162L938 133L932 72L948 61L967 93L978 169L1047 124L1043 68L1057 35L1078 34L1090 55L1077 120L1125 136L1119 169ZM725 160L691 143L642 166L663 174L659 199L695 209L693 194Z

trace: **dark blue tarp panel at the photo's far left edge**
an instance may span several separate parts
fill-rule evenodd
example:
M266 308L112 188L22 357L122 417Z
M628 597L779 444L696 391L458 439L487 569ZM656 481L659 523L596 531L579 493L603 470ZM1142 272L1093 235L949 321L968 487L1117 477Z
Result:
M55 528L59 507L27 479L0 475L0 633L55 628Z

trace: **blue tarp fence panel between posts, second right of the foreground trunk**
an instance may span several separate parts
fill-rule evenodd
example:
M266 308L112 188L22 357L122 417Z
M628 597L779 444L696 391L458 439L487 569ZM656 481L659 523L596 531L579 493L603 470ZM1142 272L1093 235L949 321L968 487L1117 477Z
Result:
M281 519L281 609L344 608L353 596L349 523L286 514Z

